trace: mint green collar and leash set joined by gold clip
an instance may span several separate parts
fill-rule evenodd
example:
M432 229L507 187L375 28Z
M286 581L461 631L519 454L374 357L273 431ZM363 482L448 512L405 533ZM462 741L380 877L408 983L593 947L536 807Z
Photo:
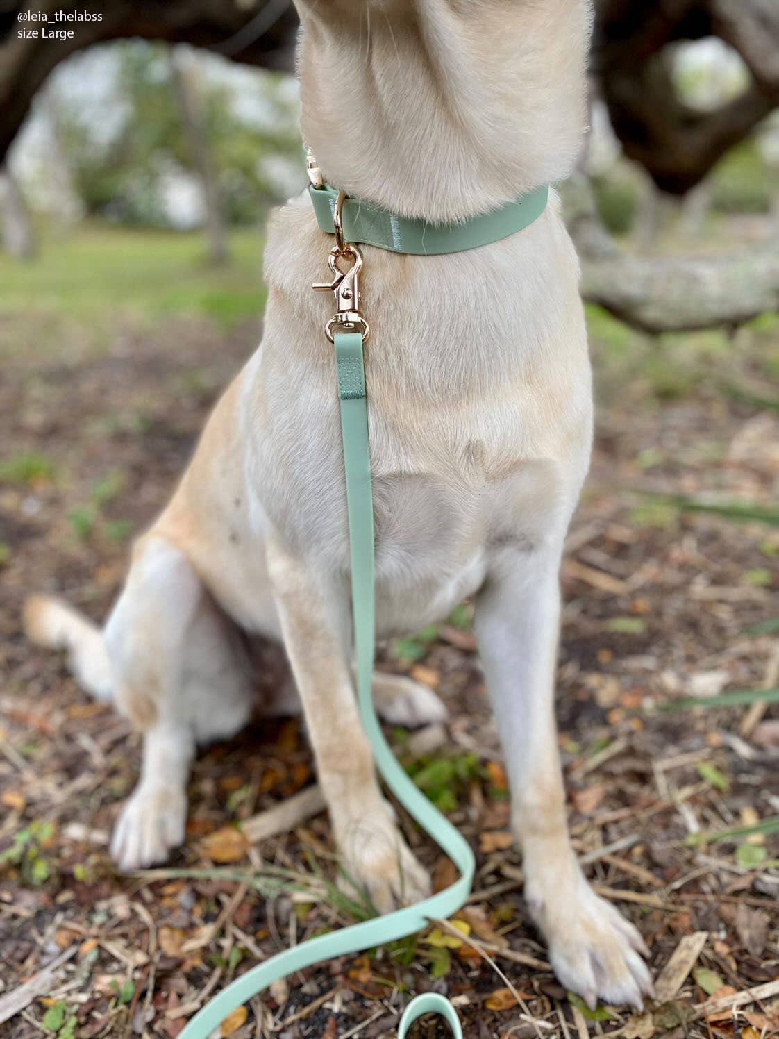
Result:
M272 982L295 970L321 960L396 941L424 930L430 920L451 916L462 907L471 893L476 865L471 846L449 820L432 806L398 764L384 739L373 707L375 560L364 358L364 346L370 328L359 313L358 275L362 257L356 243L372 244L398 252L427 255L476 248L506 238L531 224L543 212L547 193L546 187L537 188L531 194L485 216L476 217L463 224L442 227L358 204L327 185L314 184L311 188L320 228L335 235L335 245L329 258L332 282L314 288L331 290L337 302L335 316L328 322L326 331L335 351L341 408L359 715L382 779L420 826L434 836L441 850L457 867L460 877L445 890L415 905L341 931L320 935L271 957L214 996L187 1024L180 1039L207 1039L233 1010ZM344 260L351 261L351 266L346 271L339 267L339 263ZM400 1020L398 1039L404 1039L418 1017L431 1012L445 1018L455 1039L462 1039L462 1029L454 1007L442 995L432 992L418 995L408 1004Z

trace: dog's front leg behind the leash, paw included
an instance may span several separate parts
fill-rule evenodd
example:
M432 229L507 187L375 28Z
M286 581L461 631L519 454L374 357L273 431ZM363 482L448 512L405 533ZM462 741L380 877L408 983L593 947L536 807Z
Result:
M379 790L349 667L346 595L324 587L278 543L268 548L268 568L346 873L380 912L415 902L427 894L428 878Z

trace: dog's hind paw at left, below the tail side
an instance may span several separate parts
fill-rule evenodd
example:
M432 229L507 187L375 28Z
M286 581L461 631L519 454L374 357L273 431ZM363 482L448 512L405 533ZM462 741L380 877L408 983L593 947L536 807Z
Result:
M120 870L164 862L184 843L187 798L168 787L139 788L122 809L111 836L111 858Z

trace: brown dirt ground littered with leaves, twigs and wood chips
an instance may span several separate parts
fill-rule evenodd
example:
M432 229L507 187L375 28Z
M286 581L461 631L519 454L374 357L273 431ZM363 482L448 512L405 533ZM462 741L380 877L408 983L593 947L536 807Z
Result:
M170 869L117 874L107 842L137 776L138 740L20 632L31 589L105 615L130 537L165 501L256 338L250 326L225 336L176 319L116 334L97 358L64 350L55 363L30 349L3 365L0 1011L55 964L0 1024L8 1039L172 1039L209 993L258 960L349 922L327 882L324 814L254 845L240 829L314 782L295 720L257 724L202 753L187 843ZM560 743L576 851L646 939L657 1002L643 1015L586 1015L545 964L521 900L464 608L387 647L383 662L436 688L451 711L446 732L392 735L477 852L475 895L460 915L474 944L434 930L325 963L274 986L222 1035L372 1039L394 1034L408 996L428 989L456 997L478 1039L779 1032L779 715L764 703L680 701L779 686L779 532L662 497L775 507L779 409L759 394L715 393L706 377L672 394L650 392L640 373L615 391L618 380L602 380L592 475L563 570ZM449 863L406 830L446 883ZM423 1021L417 1034L444 1032Z

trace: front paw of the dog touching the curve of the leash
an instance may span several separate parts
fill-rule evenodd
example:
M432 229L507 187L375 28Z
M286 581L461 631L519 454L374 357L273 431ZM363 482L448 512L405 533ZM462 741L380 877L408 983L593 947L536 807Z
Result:
M342 886L350 898L356 884L378 912L385 913L430 894L430 878L401 836L388 805L351 823L340 844L346 873Z

